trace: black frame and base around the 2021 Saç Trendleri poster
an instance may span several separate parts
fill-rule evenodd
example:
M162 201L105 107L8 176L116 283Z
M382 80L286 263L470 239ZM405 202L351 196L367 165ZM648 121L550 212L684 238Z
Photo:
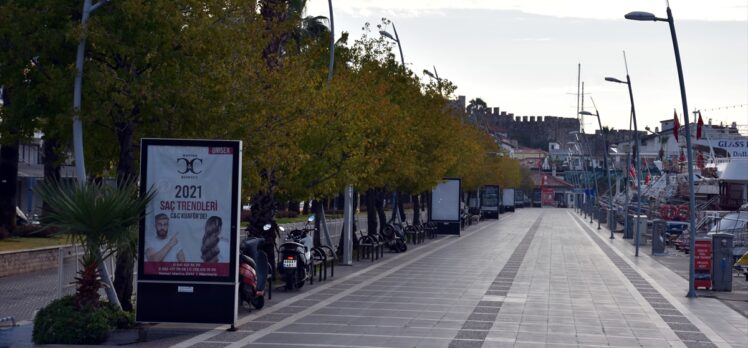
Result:
M153 147L166 147L166 151L179 148L202 148L207 149L212 155L232 156L230 169L230 185L225 185L227 191L220 191L222 195L230 194L230 209L216 208L219 215L230 216L223 227L228 230L229 235L229 257L227 275L155 275L146 274L145 269L145 240L146 223L148 217L155 217L154 212L143 212L138 231L138 277L137 277L137 301L136 321L138 322L170 322L170 323L202 323L202 324L236 324L238 308L238 281L239 281L239 208L240 205L240 179L242 142L236 140L201 140L201 139L156 139L143 138L140 143L140 194L144 195L159 179L148 176L149 154ZM230 153L229 153L230 150ZM155 150L154 150L155 151ZM216 151L215 153L211 151ZM219 153L218 151L226 151ZM186 161L177 161L177 164L188 165ZM200 162L201 163L201 162ZM160 165L160 164L159 164ZM175 165L175 164L171 164ZM189 165L191 167L192 164ZM185 169L185 172L187 169ZM180 172L181 173L181 172ZM194 171L193 171L194 173ZM202 171L199 171L202 173ZM195 174L197 183L222 180L226 182L226 176L213 177ZM171 185L171 182L169 182ZM158 194L157 194L158 195ZM224 202L225 203L225 202ZM206 214L207 215L207 214ZM176 234L175 234L176 235ZM180 262L175 262L180 263ZM195 262L184 262L195 264Z

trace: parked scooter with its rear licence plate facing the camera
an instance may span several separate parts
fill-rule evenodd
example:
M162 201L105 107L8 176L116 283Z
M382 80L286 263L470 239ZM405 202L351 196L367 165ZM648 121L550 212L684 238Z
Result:
M314 215L309 216L301 229L288 232L286 242L278 247L278 274L286 283L286 290L300 289L312 274L312 232Z

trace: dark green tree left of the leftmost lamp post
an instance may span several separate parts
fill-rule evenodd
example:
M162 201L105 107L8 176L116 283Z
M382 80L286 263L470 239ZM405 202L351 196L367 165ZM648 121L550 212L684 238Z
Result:
M75 46L68 35L76 17L80 8L70 2L0 1L0 238L15 227L19 143L42 130L45 164L59 166L54 155L68 138L60 129L70 129Z

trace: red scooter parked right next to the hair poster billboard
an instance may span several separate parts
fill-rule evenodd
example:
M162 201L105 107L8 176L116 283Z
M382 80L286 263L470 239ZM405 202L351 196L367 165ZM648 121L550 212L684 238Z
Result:
M270 225L266 225L267 228ZM265 306L265 289L272 298L272 284L268 284L270 262L264 251L261 237L249 237L242 241L239 257L239 306L247 302L256 309Z

